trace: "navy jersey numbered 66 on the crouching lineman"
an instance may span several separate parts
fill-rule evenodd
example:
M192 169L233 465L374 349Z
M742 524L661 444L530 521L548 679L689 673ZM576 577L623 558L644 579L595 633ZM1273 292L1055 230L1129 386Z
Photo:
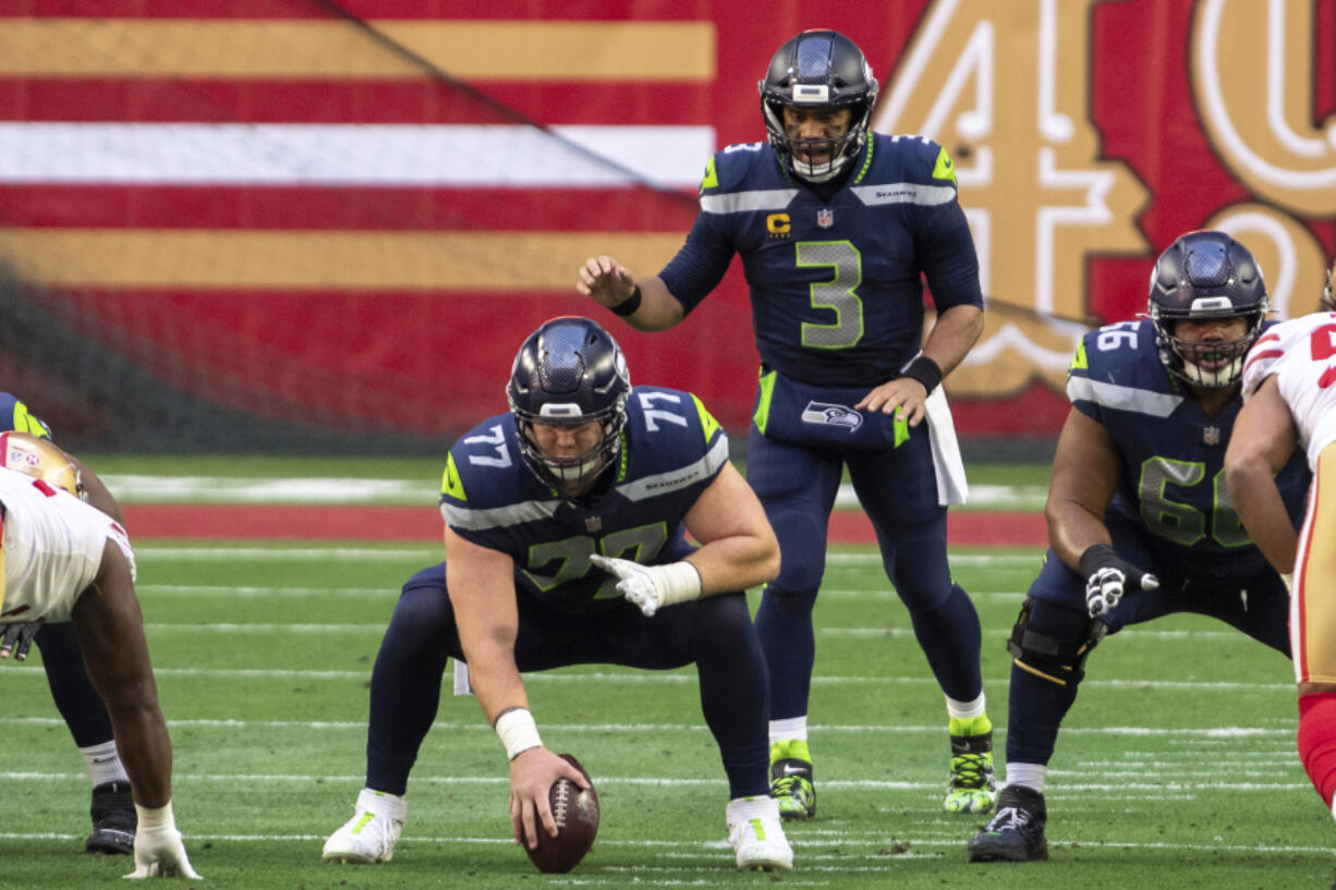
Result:
M1225 486L1225 448L1241 398L1208 416L1160 361L1149 319L1088 333L1067 369L1067 398L1104 425L1118 452L1109 510L1138 520L1162 564L1216 577L1265 568ZM1276 476L1296 527L1309 478L1301 452Z

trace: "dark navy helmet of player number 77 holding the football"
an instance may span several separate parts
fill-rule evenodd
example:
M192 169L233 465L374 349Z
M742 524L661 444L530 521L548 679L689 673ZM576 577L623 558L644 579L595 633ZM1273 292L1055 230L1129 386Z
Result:
M529 334L510 367L506 401L520 436L520 454L544 485L565 490L617 462L627 425L631 374L612 334L588 318L562 315ZM544 454L534 424L603 425L599 444L574 457Z

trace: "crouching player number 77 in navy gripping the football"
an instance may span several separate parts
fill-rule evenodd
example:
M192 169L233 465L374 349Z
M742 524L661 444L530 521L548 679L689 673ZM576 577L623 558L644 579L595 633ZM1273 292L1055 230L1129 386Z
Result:
M728 776L736 863L791 867L768 796L766 659L745 597L775 577L779 544L728 462L727 436L689 393L632 388L617 343L587 318L534 331L506 394L508 413L450 449L445 563L403 587L371 672L366 787L323 858L393 855L409 771L453 656L468 661L510 759L516 842L556 834L553 782L588 784L542 746L521 672L695 663Z

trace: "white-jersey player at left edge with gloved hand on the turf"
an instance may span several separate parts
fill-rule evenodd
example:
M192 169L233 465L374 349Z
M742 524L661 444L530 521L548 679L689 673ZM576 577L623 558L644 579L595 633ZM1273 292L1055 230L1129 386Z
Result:
M7 436L20 437L5 442L7 452L31 445L71 461L43 440ZM9 656L16 639L21 657L41 623L73 623L88 678L111 716L139 817L135 870L126 877L198 878L172 815L171 738L158 707L130 539L107 513L44 478L41 466L35 462L31 473L0 466L0 624L5 625L0 657ZM100 482L95 488L104 490Z

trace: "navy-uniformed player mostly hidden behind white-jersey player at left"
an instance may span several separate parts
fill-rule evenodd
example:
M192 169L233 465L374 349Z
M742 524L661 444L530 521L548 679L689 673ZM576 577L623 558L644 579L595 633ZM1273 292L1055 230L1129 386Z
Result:
M0 432L16 430L49 440L51 430L41 420L28 410L28 406L9 393L0 393ZM0 460L0 464L4 464ZM92 478L92 477L91 477ZM114 501L112 501L114 502ZM119 523L124 518L112 516ZM0 621L4 619L0 617ZM32 631L15 625L15 632ZM43 624L27 643L36 641L41 651L41 667L47 672L47 684L56 710L64 718L69 734L79 746L79 752L88 764L92 778L92 834L84 841L88 853L135 851L135 802L130 792L130 778L116 752L116 739L111 730L111 718L103 706L98 691L88 680L83 653L79 651L79 637L73 624ZM16 652L17 657L27 655L27 645Z

